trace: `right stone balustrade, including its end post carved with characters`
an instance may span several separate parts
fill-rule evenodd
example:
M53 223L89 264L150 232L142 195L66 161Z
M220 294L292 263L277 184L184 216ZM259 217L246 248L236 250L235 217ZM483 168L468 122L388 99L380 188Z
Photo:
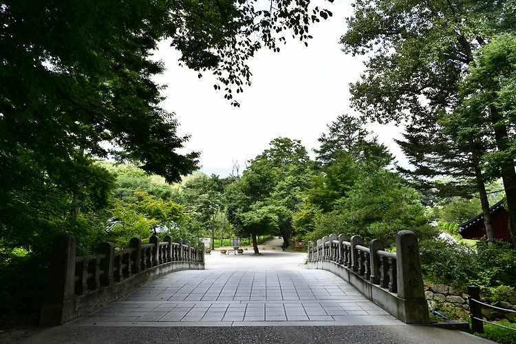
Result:
M396 253L380 239L332 234L308 248L308 267L338 275L367 299L405 323L429 323L418 238L410 230L396 235Z

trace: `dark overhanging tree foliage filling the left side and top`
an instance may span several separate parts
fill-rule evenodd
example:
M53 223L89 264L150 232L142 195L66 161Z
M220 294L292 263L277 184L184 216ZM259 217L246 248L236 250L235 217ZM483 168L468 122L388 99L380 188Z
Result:
M285 34L306 44L308 25L332 15L304 0L258 6L239 0L1 3L0 246L28 252L10 264L38 261L29 270L44 272L52 239L61 233L76 235L79 253L103 241L113 178L93 157L131 160L166 182L197 169L199 153L178 153L189 137L178 136L177 120L160 107L163 87L153 76L164 66L151 60L158 41L169 39L188 67L213 71L232 99L233 90L250 85L246 62L257 50L279 51ZM144 186L131 191L169 198ZM131 197L127 190L118 194ZM117 204L114 211L131 215L144 233L142 210L131 207ZM5 262L3 272L17 270Z

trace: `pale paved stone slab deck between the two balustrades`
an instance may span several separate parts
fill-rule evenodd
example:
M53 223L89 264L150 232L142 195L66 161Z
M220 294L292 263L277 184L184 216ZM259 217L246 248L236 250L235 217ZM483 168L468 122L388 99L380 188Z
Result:
M262 252L214 252L206 256L206 268L216 270L171 273L69 325L403 324L331 272L306 269L304 254Z

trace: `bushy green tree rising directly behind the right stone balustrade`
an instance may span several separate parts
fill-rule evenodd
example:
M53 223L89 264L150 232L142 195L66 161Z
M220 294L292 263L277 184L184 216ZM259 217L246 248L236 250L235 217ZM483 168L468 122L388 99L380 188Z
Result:
M297 219L296 225L305 227L299 222L302 217ZM305 235L303 241L316 241L338 232L348 237L360 235L366 241L382 239L389 247L394 245L400 230L412 230L420 239L436 235L436 230L427 224L416 191L395 173L385 170L361 173L352 190L337 200L335 209L321 211L310 226L315 230Z

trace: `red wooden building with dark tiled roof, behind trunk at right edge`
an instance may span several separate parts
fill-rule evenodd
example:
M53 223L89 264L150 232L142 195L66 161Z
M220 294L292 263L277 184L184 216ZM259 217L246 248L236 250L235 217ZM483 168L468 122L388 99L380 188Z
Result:
M493 230L495 232L495 239L503 241L513 241L509 232L509 212L505 210L502 205L503 201L498 202L489 208L493 220ZM464 239L482 239L486 237L486 226L484 226L484 214L469 219L463 224L459 225L458 233Z

